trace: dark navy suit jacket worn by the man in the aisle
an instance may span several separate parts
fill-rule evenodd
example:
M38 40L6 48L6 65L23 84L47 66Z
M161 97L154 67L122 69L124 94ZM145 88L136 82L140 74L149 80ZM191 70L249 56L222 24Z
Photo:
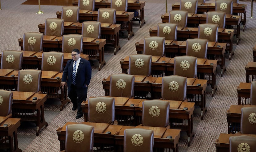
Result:
M63 70L62 82L67 82L70 88L72 84L74 60L68 60L66 67ZM92 68L88 60L81 58L76 72L76 88L85 88L85 84L89 85L92 77Z

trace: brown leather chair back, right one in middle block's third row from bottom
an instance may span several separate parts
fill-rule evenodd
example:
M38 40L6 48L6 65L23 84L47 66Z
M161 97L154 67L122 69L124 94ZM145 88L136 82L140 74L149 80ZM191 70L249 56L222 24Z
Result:
M187 78L184 76L163 76L162 99L184 101L187 99Z

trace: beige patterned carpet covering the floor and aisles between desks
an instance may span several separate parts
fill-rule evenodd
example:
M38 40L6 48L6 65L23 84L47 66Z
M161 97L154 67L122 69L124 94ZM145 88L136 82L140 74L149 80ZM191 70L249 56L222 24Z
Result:
M35 14L38 11L37 5L21 5L25 0L1 0L2 10L0 10L0 51L20 50L18 39L25 32L38 32L38 24L44 23L46 18L56 18L56 11L61 10L62 6L41 6L44 14ZM171 4L178 0L168 1L168 10L171 10ZM207 2L214 2L209 0ZM221 78L217 74L218 90L214 97L210 92L206 96L208 111L205 113L204 120L200 120L198 108L194 111L194 132L191 146L187 147L186 135L182 133L179 141L179 151L181 152L212 152L216 151L215 140L220 133L227 133L226 111L232 104L237 104L236 87L240 82L246 82L245 65L253 61L252 48L256 44L254 39L256 29L255 18L250 18L251 1L240 1L241 4L247 4L247 27L241 31L241 41L239 45L234 44L234 53L232 60L226 58L226 68L224 76ZM254 3L254 9L255 9ZM254 10L254 16L256 17ZM126 37L120 38L122 49L114 55L113 51L105 51L106 65L101 71L97 69L97 62L93 66L93 77L88 89L88 97L104 96L101 80L113 73L121 73L119 61L125 56L136 54L135 43L144 37L149 36L148 29L161 23L161 15L165 13L164 0L146 0L145 19L146 24L139 28L138 22L134 22L135 35L127 41ZM219 67L218 67L219 68ZM208 86L209 88L209 86ZM72 104L59 111L60 102L52 100L45 104L45 119L48 127L41 129L39 136L35 136L33 125L23 123L18 130L19 148L23 152L57 152L60 151L60 142L57 140L56 129L63 126L67 121L81 122L83 118L75 119L76 111L72 111ZM30 126L29 128L27 126Z

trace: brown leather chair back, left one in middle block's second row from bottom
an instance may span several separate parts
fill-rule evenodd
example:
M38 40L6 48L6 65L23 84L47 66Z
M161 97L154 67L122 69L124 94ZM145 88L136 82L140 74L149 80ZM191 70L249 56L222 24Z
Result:
M89 122L107 123L115 121L115 98L95 97L88 99Z

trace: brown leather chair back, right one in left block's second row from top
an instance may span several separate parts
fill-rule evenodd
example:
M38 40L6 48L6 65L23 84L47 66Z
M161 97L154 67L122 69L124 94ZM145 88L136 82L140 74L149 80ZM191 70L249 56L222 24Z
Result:
M114 8L99 8L98 9L98 22L101 23L116 23L116 9Z

